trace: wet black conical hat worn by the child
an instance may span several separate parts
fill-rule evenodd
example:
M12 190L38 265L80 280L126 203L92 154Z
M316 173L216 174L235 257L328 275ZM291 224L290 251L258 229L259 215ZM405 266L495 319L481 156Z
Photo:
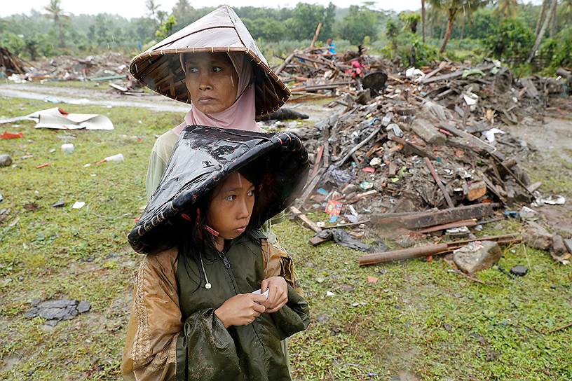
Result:
M306 148L292 132L268 134L200 125L182 131L163 179L128 235L131 247L154 254L173 246L174 224L228 174L246 165L261 177L249 226L259 228L288 207L308 178Z

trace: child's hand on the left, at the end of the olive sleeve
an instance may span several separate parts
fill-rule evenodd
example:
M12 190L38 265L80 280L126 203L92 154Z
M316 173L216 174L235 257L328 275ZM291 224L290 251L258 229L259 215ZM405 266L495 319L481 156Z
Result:
M246 326L266 310L261 303L266 300L264 295L239 293L222 303L214 310L214 314L222 321L224 328L229 326Z

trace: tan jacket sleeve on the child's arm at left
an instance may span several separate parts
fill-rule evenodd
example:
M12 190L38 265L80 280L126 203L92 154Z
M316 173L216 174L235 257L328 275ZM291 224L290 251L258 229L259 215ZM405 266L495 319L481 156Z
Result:
M174 380L182 331L177 293L177 249L146 256L139 266L123 349L125 380Z

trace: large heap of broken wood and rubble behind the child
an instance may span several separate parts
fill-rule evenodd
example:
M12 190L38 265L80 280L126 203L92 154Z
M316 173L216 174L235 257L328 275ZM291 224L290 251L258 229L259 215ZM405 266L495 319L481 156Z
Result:
M388 74L394 70L374 57L341 62L311 48L292 53L278 67L294 94L299 89L335 95L338 99L328 106L344 108L313 127L293 130L311 153L313 169L290 212L317 233L311 244L336 240L332 228L359 227L350 232L359 239L365 224L407 232L409 240L397 242L406 248L429 233L475 238L469 228L481 230L484 223L505 217L496 217L495 208L566 202L558 195L540 195L541 183L531 183L519 165L532 148L503 128L524 116L541 117L551 97L566 95L567 76L518 79L500 62L476 67L441 62ZM308 210L327 213L329 222L311 221ZM529 207L522 210L522 219L536 213ZM489 240L520 242L513 235ZM388 258L450 253L462 246L437 245L427 253ZM461 270L471 275L493 262Z

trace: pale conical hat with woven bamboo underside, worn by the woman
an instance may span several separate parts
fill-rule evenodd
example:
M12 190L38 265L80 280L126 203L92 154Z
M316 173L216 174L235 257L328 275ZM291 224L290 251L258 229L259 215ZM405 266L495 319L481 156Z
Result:
M165 97L191 103L184 83L180 53L243 53L254 67L256 114L264 116L280 109L290 90L272 71L238 15L222 6L152 48L133 57L132 76Z

